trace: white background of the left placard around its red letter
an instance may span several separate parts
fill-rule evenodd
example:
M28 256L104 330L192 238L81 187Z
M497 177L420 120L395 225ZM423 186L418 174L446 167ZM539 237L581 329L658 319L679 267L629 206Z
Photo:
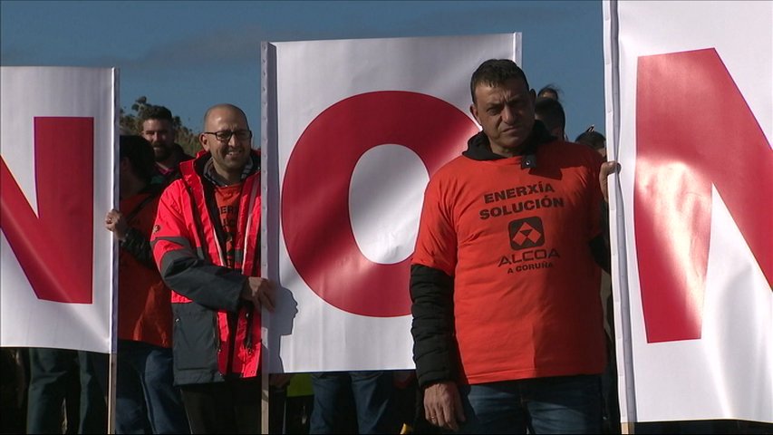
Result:
M0 147L14 179L37 213L34 117L92 117L94 126L92 304L38 299L3 233L0 243L0 343L111 352L112 235L104 227L113 208L114 148L118 104L115 69L2 67ZM78 153L79 150L60 150ZM84 161L84 168L86 162ZM61 168L64 174L82 168ZM80 195L68 192L67 195ZM68 231L67 227L58 228Z

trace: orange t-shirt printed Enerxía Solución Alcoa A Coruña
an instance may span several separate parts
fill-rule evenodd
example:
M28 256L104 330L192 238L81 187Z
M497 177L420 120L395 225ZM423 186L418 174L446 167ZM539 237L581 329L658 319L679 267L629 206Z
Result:
M454 278L461 382L604 371L601 160L553 141L521 157L459 157L427 186L412 263Z

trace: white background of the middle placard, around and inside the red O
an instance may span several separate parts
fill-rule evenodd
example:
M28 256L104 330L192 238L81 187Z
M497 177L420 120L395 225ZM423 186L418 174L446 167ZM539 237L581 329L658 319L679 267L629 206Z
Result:
M285 228L280 233L275 227L279 225L279 204L285 198L272 197L271 192L283 191L287 164L302 133L333 104L364 92L420 92L448 102L472 120L470 75L490 58L520 63L520 47L520 34L264 44L263 83L267 89L264 84L262 149L268 172L264 193L271 213L264 214L271 238L265 238L268 254L263 258L268 275L278 275L280 286L287 290L280 292L269 326L273 330L268 339L269 347L274 348L272 372L413 368L410 314L369 316L336 308L311 290L288 256ZM381 109L368 110L379 113ZM424 113L406 128L420 129L426 121L422 118L434 115ZM460 143L449 143L449 147L464 150L467 139L459 138ZM278 144L276 155L272 155L277 147L273 143ZM351 179L344 175L350 183L351 225L362 255L374 263L393 264L412 255L429 175L409 148L400 143L382 145L386 146L362 155ZM328 150L326 159L335 160L342 152L342 145L334 141L319 146ZM278 178L272 171L278 171ZM327 198L304 200L315 201L323 213L328 204ZM277 257L275 271L271 263ZM325 273L326 280L335 285L345 286L352 280L335 268ZM406 278L399 291L407 294L408 286ZM277 340L280 349L275 355Z

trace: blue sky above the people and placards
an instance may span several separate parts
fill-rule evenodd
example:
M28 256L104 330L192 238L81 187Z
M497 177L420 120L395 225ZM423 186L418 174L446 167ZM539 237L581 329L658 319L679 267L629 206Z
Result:
M521 32L529 82L561 89L568 136L604 132L601 1L4 0L0 24L3 66L117 67L121 107L145 95L194 131L218 102L259 128L262 41Z

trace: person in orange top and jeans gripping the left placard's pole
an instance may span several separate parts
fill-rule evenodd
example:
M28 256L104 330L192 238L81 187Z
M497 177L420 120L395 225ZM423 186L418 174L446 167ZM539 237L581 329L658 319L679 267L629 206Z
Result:
M163 184L150 143L121 135L120 210L105 227L121 247L118 286L118 371L116 433L189 433L182 397L172 375L172 314L150 252L150 231Z

